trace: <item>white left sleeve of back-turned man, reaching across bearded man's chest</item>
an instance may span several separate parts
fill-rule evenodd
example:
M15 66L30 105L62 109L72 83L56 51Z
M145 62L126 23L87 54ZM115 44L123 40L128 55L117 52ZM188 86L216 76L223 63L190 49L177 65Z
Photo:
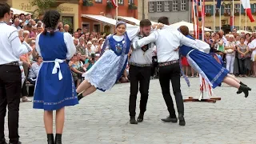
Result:
M159 31L155 30L148 37L144 37L142 39L139 39L139 40L133 42L134 50L138 49L142 46L145 46L145 45L149 44L150 42L155 42L158 39L158 36L159 36Z

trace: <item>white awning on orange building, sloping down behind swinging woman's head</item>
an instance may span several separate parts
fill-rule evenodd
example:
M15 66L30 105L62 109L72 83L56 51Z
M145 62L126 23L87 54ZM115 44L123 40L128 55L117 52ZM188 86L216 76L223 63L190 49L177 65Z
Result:
M89 19L92 19L94 21L98 21L98 22L104 22L104 23L108 23L110 25L115 25L116 24L116 20L115 19L112 19L112 18L107 18L103 15L93 15L93 14L82 14L82 18L89 18ZM130 25L130 24L126 24L126 26L133 26L133 25Z

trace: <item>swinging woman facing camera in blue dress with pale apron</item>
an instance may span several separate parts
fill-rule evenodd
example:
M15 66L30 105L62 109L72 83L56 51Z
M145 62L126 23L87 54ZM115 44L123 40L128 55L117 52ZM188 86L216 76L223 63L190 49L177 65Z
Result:
M116 34L106 38L102 46L102 56L85 74L85 80L78 86L78 99L93 93L95 90L110 90L122 77L126 68L130 41L138 34L139 29L126 32L126 22L116 24Z

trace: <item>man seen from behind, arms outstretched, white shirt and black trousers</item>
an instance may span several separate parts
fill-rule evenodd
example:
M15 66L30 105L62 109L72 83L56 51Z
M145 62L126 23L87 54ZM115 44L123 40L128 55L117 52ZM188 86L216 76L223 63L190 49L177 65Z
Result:
M161 17L158 22L169 25L167 17ZM158 25L159 26L159 25ZM158 27L159 28L159 27ZM181 93L180 83L180 66L178 46L182 44L198 49L197 43L190 38L183 36L178 30L174 30L165 26L162 30L155 30L150 36L142 38L133 43L134 47L144 46L150 42L155 42L157 46L158 66L159 66L159 81L162 88L162 95L166 101L166 106L170 116L163 118L164 122L177 122L179 125L185 126L184 104ZM178 109L178 119L174 110L174 103L170 96L170 81L173 86L174 96Z

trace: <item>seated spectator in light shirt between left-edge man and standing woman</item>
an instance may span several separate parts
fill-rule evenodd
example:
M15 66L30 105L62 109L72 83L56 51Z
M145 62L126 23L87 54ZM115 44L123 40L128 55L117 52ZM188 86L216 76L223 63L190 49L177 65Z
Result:
M30 72L28 75L28 81L33 85L35 85L35 82L37 80L39 68L42 63L42 57L38 56L35 60L36 62L33 63L32 66L30 67Z

